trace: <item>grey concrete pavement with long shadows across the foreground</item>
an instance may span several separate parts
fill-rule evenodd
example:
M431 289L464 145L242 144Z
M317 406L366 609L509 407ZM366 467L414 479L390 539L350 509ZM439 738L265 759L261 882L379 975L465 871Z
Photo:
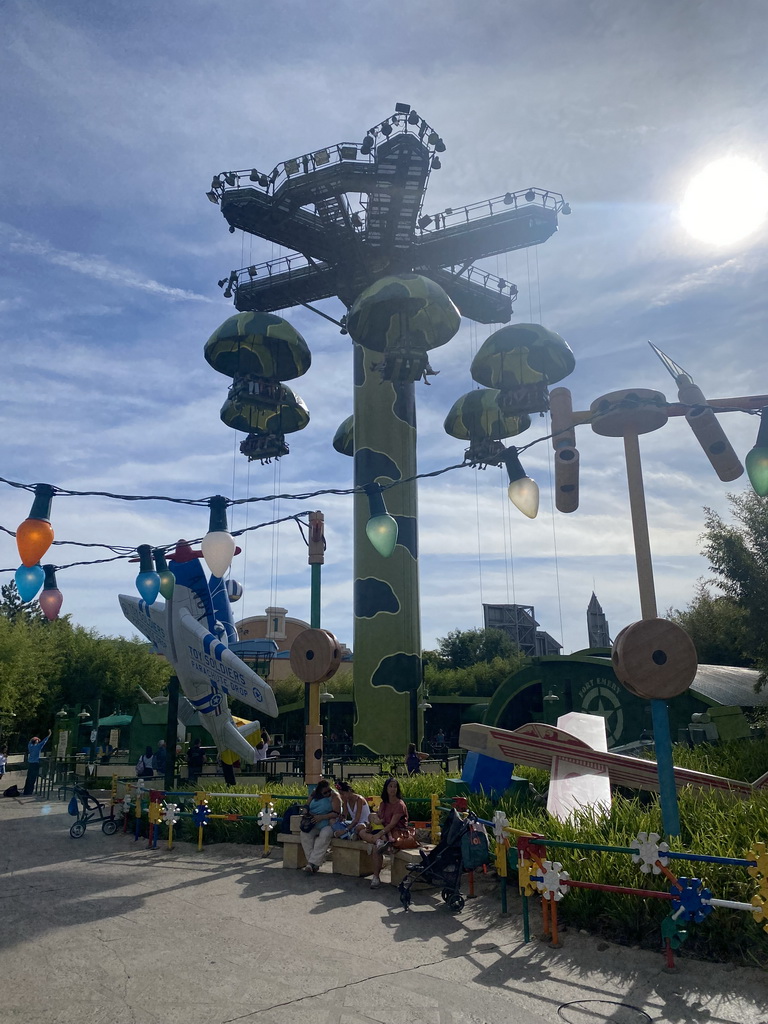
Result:
M0 1024L767 1024L768 975L566 933L519 901L413 909L367 880L245 846L145 848L66 803L0 799ZM538 925L538 922L535 923ZM768 941L768 936L765 936Z

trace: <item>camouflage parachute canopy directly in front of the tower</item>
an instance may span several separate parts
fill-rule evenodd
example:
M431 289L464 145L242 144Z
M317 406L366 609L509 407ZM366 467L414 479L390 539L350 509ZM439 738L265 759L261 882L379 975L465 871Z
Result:
M445 292L418 273L381 278L352 303L347 330L374 352L428 351L451 341L461 314Z

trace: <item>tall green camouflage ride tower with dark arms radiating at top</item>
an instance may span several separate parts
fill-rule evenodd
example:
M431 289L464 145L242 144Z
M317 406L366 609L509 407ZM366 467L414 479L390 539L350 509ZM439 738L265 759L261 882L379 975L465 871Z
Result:
M461 316L509 322L517 289L475 261L546 242L557 230L558 214L570 212L558 193L528 187L427 214L429 177L440 169L444 151L437 132L409 104L397 103L360 142L315 150L269 172L221 172L207 194L220 205L230 231L240 228L294 250L219 282L241 315L230 317L211 342L223 332L232 350L240 336L246 348L273 352L270 337L282 332L280 317L271 315L275 310L313 309L309 303L332 296L347 310L338 322L321 315L338 323L354 349L353 416L340 426L334 447L353 457L357 490L354 741L376 754L404 750L418 739L415 382L433 372L428 352L456 334ZM293 424L286 430L300 429L308 419L303 403L297 413L297 396L278 383L276 370L250 381L237 369L230 375L234 394L222 419L236 429L255 429L242 451L262 460L285 455L281 402ZM244 413L244 399L251 407L269 406L271 413ZM268 438L259 434L266 420Z

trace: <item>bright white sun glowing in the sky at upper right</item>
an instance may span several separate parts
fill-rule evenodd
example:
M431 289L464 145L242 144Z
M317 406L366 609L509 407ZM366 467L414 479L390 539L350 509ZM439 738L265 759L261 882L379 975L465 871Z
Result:
M768 214L768 174L742 157L724 157L696 175L680 219L701 242L727 246L752 234Z

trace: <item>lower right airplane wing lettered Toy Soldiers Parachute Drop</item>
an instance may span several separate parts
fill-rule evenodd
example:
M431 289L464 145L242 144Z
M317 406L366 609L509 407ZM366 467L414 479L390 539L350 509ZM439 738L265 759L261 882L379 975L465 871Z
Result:
M278 717L272 688L186 608L174 624L174 641L175 668L179 674L197 679L203 676L227 696L258 708L270 718Z

